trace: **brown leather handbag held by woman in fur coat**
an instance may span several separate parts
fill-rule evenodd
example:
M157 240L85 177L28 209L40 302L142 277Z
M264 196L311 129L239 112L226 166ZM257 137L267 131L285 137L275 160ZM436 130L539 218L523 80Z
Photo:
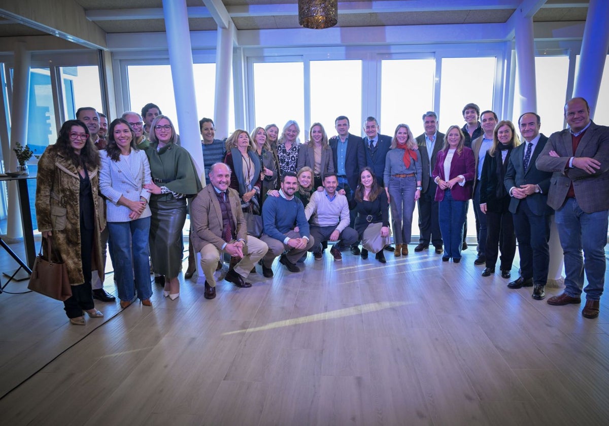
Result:
M46 240L47 245L47 256L43 254L44 240ZM51 245L51 238L43 239L40 245L40 253L38 253L34 262L27 288L32 290L32 292L37 292L62 302L72 296L68 268L62 262L57 250Z

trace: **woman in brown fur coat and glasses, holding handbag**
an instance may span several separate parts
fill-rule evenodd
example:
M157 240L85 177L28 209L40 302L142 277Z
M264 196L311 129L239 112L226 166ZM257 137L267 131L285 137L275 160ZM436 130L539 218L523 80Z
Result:
M51 243L68 268L72 297L64 309L70 323L85 325L83 311L101 317L91 295L91 271L104 279L99 233L105 228L99 189L99 154L80 120L66 121L54 145L38 162L36 218L43 239Z

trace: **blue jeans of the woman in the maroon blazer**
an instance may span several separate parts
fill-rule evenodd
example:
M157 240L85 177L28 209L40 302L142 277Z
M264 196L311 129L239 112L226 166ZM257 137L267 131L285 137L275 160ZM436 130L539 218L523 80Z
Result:
M440 201L438 206L440 232L442 232L442 240L444 241L442 257L461 259L466 203L466 201L453 200L450 189L444 191L444 200Z

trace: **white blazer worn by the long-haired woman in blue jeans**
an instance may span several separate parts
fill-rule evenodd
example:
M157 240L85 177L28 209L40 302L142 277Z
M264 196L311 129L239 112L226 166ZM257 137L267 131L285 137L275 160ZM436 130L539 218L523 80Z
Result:
M152 182L146 153L144 150L132 150L130 163L122 157L119 161L112 161L106 150L101 150L99 156L102 161L99 190L107 198L106 221L130 222L131 210L117 203L121 196L131 201L139 201L139 197L150 201L150 192L144 189L144 184ZM150 214L150 207L146 204L146 209L139 218L149 217Z

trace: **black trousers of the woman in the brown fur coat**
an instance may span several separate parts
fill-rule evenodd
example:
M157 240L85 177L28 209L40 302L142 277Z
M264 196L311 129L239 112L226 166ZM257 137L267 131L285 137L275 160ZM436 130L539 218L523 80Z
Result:
M68 318L78 318L82 316L83 310L90 310L95 307L93 303L93 293L91 293L91 258L93 256L93 229L85 229L80 224L80 260L82 262L82 273L85 282L79 285L72 285L72 296L63 302L63 309Z

